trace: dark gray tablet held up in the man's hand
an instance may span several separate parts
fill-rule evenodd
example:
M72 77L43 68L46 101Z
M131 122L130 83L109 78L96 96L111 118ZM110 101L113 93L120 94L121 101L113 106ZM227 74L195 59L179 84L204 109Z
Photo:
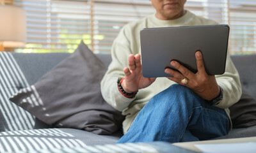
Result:
M164 73L164 69L177 70L170 65L173 60L196 73L196 50L202 52L205 70L209 75L223 74L228 34L229 26L226 24L141 29L143 77L172 77Z

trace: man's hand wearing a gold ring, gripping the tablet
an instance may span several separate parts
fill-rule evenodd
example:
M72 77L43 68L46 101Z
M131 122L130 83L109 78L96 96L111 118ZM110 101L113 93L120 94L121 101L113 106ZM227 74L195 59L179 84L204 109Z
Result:
M205 100L212 100L220 94L220 87L216 82L215 76L208 75L206 73L202 53L197 51L195 56L196 66L198 69L197 73L189 71L189 69L185 68L177 61L172 61L171 65L180 72L174 71L170 68L166 68L164 71L165 73L173 76L168 77L170 80L181 85L184 85L181 83L181 80L187 78L188 84L186 84L186 87L194 91L201 98L204 98Z

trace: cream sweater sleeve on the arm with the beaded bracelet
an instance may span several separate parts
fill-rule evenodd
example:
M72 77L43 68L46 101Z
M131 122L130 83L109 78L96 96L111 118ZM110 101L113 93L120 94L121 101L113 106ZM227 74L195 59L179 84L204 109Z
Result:
M126 27L126 26L125 26ZM132 54L125 27L120 31L111 48L112 62L100 86L102 96L116 110L123 111L135 98L126 98L118 91L117 79L124 77L123 69L128 66L128 56Z

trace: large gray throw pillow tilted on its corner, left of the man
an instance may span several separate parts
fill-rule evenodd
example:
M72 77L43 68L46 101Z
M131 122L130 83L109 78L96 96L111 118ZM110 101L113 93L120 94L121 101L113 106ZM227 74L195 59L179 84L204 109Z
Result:
M102 98L106 69L82 41L74 54L10 100L51 126L110 135L124 117Z

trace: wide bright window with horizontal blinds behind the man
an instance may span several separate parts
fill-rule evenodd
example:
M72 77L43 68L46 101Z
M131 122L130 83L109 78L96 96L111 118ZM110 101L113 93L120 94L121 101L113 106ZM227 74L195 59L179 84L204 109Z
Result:
M8 1L8 0L5 0ZM147 0L15 0L27 11L28 43L16 52L74 52L83 39L109 53L118 31L155 12ZM230 52L256 52L255 0L188 0L186 10L230 25Z

